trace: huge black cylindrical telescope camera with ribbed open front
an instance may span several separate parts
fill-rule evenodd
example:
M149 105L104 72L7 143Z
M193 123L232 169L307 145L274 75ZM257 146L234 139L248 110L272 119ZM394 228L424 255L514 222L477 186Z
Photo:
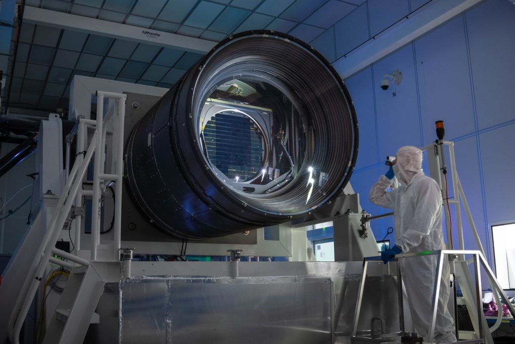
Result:
M218 44L136 125L126 179L162 230L205 239L305 216L348 183L357 122L310 46L273 31Z

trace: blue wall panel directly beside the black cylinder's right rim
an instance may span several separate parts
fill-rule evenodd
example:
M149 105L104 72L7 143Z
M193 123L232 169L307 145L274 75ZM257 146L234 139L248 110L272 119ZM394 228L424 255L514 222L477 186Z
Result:
M345 81L356 109L359 125L359 146L355 169L374 165L377 162L377 140L372 92L371 68Z

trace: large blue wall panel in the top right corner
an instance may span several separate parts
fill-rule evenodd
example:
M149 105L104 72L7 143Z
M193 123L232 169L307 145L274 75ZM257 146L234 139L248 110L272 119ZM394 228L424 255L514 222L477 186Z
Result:
M466 20L477 120L483 129L515 118L515 6L486 1L468 11Z

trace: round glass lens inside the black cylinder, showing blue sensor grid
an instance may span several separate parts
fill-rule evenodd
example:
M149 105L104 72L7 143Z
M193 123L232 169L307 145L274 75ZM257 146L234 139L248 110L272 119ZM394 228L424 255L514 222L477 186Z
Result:
M289 98L264 80L220 83L205 100L198 127L204 158L234 191L280 190L302 166L304 123Z

